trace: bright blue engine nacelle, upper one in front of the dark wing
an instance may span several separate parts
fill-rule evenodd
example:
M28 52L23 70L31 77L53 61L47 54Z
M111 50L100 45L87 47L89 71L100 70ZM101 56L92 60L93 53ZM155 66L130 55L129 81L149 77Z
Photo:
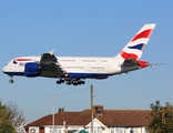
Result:
M26 71L28 72L38 72L39 71L39 63L26 63Z

